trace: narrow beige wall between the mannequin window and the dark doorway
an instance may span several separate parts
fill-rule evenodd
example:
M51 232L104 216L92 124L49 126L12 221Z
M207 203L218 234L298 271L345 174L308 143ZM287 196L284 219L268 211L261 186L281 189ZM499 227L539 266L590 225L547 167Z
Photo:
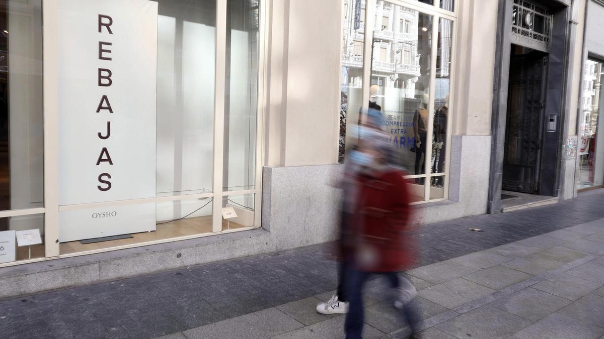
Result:
M490 135L498 1L458 7L453 134Z

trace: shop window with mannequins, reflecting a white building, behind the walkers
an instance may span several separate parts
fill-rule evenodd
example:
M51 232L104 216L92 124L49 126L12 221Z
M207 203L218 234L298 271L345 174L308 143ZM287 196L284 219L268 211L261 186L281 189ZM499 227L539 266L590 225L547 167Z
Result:
M390 161L406 171L413 201L442 200L447 192L451 141L449 92L454 21L430 10L388 2L377 4L372 9L374 13L381 10L381 5L400 14L400 33L414 36L399 35L394 42L374 37L373 52L364 55L365 59L373 57L368 107L382 112L383 129L393 147ZM452 10L453 1L442 1L440 5ZM433 27L438 31L434 32ZM362 104L357 101L349 112L362 111Z

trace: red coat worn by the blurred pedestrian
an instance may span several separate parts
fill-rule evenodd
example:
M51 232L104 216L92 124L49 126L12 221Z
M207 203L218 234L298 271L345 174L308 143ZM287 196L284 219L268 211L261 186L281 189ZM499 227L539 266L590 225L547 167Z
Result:
M411 268L417 252L405 234L411 207L403 173L387 169L374 177L359 176L356 184L357 208L342 220L344 259L363 271Z

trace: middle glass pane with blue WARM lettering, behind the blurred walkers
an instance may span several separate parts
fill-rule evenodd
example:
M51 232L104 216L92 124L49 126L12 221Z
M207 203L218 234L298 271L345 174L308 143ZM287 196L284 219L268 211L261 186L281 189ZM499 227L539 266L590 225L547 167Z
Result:
M385 6L378 5L377 11ZM382 112L396 165L411 175L425 174L432 16L399 5L389 12L395 23L400 23L400 17L410 21L411 33L393 37L387 31L374 33L369 107ZM381 60L376 53L384 50L386 57ZM420 178L415 181L423 183Z

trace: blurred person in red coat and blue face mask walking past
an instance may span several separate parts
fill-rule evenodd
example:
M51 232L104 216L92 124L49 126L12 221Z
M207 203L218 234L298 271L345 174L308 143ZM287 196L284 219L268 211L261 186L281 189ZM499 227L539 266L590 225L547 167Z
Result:
M350 159L358 165L345 188L352 206L342 221L344 291L349 302L345 320L346 338L361 338L364 315L362 290L371 274L384 275L396 291L393 306L413 332L419 320L411 306L416 290L399 272L410 268L416 252L405 236L410 222L410 198L404 173L388 163L390 144L384 141L381 124L368 119L371 138L361 138ZM349 202L350 203L350 202Z

